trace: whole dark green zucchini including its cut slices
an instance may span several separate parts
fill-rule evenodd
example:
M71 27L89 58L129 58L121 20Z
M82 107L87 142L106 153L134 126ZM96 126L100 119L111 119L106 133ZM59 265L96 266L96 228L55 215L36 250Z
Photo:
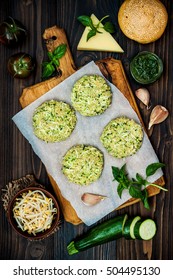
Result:
M149 240L155 234L156 223L152 219L142 220L140 216L128 219L127 214L124 214L91 228L83 236L73 240L67 250L69 255L73 255L121 237Z

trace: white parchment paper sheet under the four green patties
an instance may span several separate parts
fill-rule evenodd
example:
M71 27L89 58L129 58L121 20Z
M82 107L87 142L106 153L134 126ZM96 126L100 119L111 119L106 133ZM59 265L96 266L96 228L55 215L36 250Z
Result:
M118 197L117 182L113 181L112 176L112 166L121 167L126 163L127 172L130 177L135 176L137 172L145 176L145 168L148 164L158 162L158 158L145 132L142 147L131 157L116 159L110 156L104 149L99 137L105 125L113 118L127 116L140 123L137 114L130 106L128 100L108 81L113 93L112 104L102 115L84 117L76 112L77 125L73 133L67 140L59 143L45 143L34 135L32 127L34 110L44 101L51 99L62 100L71 104L71 89L73 84L83 75L89 74L98 74L102 76L98 66L96 66L94 62L90 62L13 117L13 121L21 133L32 145L34 152L39 156L48 173L58 184L62 195L70 201L79 218L88 226L97 222L130 198L125 191L121 199ZM104 169L101 177L97 182L84 187L70 183L61 171L62 157L69 148L77 144L93 145L99 148L104 154ZM154 182L162 175L162 171L158 170L155 175L150 177L150 181ZM84 205L81 201L81 195L84 192L102 194L107 196L107 198L101 203L89 207Z

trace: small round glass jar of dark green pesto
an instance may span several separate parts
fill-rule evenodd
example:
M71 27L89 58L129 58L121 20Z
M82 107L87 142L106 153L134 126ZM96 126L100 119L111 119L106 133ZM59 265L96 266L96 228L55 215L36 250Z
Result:
M151 84L160 78L163 62L155 53L143 51L131 61L130 72L136 82Z

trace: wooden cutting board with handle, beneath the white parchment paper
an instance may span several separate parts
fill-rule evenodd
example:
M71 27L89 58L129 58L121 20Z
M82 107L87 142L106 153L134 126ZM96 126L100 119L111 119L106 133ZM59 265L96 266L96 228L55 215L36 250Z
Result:
M66 34L63 29L53 26L51 28L48 28L45 30L43 34L43 38L45 40L47 50L52 52L58 45L60 44L66 44L67 45L67 51L66 54L61 58L60 60L60 75L54 78L51 78L49 80L43 81L41 83L38 83L36 85L30 86L28 88L25 88L22 92L22 95L20 97L20 104L22 108L26 107L30 103L32 103L34 100L42 96L44 93L58 85L60 82L65 80L68 76L73 74L77 69L75 67L70 48L68 45L68 41L66 38ZM136 111L141 123L143 124L142 118L140 116L137 104L135 102L135 98L133 96L133 93L130 89L130 86L128 84L123 66L121 61L115 60L113 58L107 58L103 60L99 60L95 62L103 75L112 82L121 92L122 94L128 99L130 102L132 108ZM144 126L144 124L143 124ZM57 196L57 199L59 201L59 205L61 207L61 211L64 215L64 219L67 222L70 222L74 225L80 224L82 221L77 216L76 211L71 206L70 202L66 200L60 191L60 188L54 181L54 179L48 174L50 182L52 184L52 187L54 189L54 192ZM155 183L163 186L165 184L163 176L159 178ZM160 192L160 190L153 186L147 187L149 196L156 195ZM139 199L129 199L127 202L123 203L120 207L117 209L124 208L126 206L129 206L131 204L134 204L138 202Z

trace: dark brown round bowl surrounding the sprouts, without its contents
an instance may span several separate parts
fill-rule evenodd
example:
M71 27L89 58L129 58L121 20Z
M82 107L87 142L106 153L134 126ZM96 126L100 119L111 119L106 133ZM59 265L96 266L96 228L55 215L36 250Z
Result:
M29 234L27 231L22 231L18 227L17 222L16 222L16 220L15 220L15 218L13 216L13 207L14 207L14 204L16 202L16 198L21 197L21 195L23 193L26 193L28 191L35 191L35 190L42 191L48 198L52 198L54 207L57 209L57 213L54 215L54 219L52 221L52 225L51 225L51 227L49 229L47 229L47 230L45 230L43 232L36 233L36 235L33 235L33 234ZM8 207L8 220L9 220L12 228L18 234L20 234L21 236L23 236L23 237L25 237L27 239L30 239L30 240L44 239L44 238L48 237L49 235L51 235L52 233L54 233L57 230L58 225L60 223L59 217L60 217L60 211L59 211L59 205L57 203L57 200L55 199L55 197L50 192L48 192L47 190L45 190L44 188L41 188L41 187L32 187L32 186L30 186L30 187L27 187L27 188L24 188L24 189L20 190L13 197L13 199L9 203L9 207Z

